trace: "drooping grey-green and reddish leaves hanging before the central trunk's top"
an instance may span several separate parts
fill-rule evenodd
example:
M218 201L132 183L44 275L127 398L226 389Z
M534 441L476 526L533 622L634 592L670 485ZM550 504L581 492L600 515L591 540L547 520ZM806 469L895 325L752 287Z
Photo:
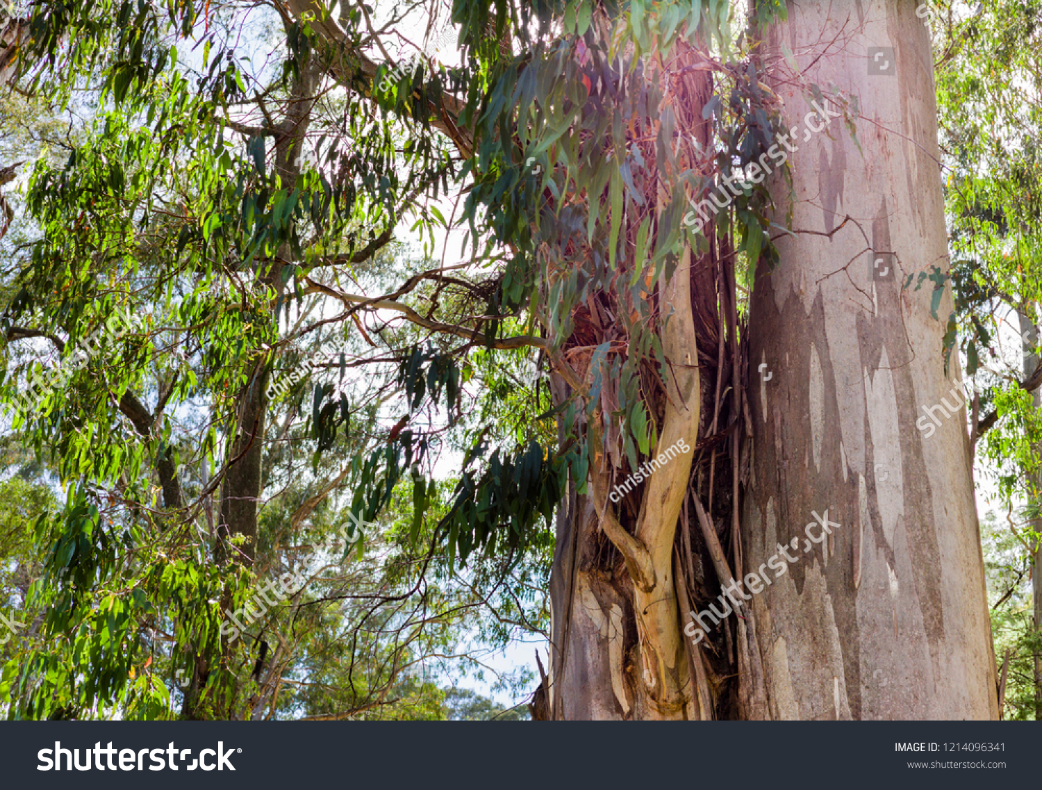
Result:
M463 7L478 14L457 3L455 19ZM575 441L566 458L580 491L590 458L576 426L593 417L602 393L612 417L621 418L619 439L631 467L658 441L660 416L651 403L668 378L659 337L668 307L658 306L649 291L671 276L686 245L704 246L681 222L688 195L713 186L695 157L715 159L720 172L745 167L771 147L779 128L776 101L764 94L753 59L725 60L718 93L703 110L713 140L705 149L695 143L684 150L691 131L681 123L690 113L685 101L694 97L670 95L675 89L661 77L664 64L681 41L711 42L729 57L736 42L726 4L631 2L619 16L593 7L565 4L560 36L519 27L522 53L488 56L481 90L468 94L462 115L475 129L474 156L462 171L474 179L465 206L474 254L486 234L513 252L495 310L539 304L551 355L570 346L593 351L593 378L575 395L575 413L561 409L565 436ZM766 19L772 10L760 13ZM606 19L594 24L601 14ZM776 256L767 237L770 197L764 184L742 187L720 221L734 219L736 252L751 269L762 252ZM660 202L659 195L666 197ZM624 340L575 336L576 312L594 302L610 305Z

